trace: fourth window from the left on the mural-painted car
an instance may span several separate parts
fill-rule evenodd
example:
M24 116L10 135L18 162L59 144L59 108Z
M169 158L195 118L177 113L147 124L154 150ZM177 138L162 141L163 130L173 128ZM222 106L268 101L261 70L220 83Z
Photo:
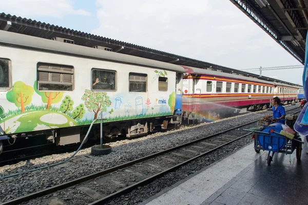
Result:
M129 73L129 92L146 92L147 74Z

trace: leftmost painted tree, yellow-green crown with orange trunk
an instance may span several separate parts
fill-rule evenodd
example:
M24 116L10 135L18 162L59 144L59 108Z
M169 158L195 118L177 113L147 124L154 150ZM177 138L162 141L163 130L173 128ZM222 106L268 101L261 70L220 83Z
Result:
M7 100L14 103L17 108L21 108L25 112L25 106L29 105L32 101L34 91L31 86L27 86L22 81L16 81L13 89L7 92Z

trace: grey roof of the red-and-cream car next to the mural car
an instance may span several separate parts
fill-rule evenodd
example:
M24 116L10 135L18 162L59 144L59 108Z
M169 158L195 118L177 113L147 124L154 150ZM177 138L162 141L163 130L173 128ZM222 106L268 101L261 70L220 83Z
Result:
M201 69L201 68L193 68L193 67L189 67L189 66L183 66L183 68L186 70L186 73L189 73L189 74L214 75L214 76L219 76L219 77L227 77L227 78L233 78L233 79L239 79L239 80L247 80L247 81L253 81L253 82L257 82L257 83L274 85L274 83L271 82L271 81L260 80L260 79L253 78L253 77L246 77L246 76L242 76L242 75L223 73L223 72L207 70L207 69Z

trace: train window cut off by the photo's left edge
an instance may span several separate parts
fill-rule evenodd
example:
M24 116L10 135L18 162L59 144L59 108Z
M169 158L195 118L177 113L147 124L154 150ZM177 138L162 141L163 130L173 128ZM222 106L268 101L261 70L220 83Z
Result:
M11 60L0 59L0 90L10 90Z

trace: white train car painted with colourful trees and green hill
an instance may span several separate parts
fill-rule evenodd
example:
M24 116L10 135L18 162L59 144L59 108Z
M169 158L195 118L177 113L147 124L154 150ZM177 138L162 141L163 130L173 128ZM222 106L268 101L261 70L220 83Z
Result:
M81 128L101 112L105 137L165 129L182 73L161 61L0 31L0 142L38 134L57 145L80 142Z

